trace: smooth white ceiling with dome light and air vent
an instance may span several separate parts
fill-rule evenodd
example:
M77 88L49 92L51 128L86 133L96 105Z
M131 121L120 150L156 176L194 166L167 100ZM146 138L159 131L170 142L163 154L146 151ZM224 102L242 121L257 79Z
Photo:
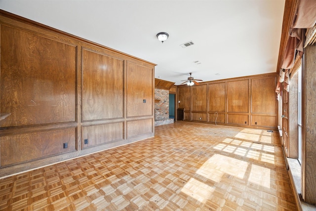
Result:
M190 72L203 81L276 72L284 2L0 0L0 8L155 63L155 78L181 84ZM159 42L159 32L169 39Z

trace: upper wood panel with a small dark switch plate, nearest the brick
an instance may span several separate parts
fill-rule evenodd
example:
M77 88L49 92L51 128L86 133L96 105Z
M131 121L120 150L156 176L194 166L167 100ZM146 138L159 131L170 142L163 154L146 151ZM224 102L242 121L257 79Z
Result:
M154 114L154 83L153 69L127 62L127 117Z

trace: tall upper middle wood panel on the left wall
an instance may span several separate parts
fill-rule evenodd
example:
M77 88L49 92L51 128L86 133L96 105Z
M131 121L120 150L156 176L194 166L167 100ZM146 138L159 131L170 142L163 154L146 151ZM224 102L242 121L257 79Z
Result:
M123 118L124 61L82 49L82 120Z

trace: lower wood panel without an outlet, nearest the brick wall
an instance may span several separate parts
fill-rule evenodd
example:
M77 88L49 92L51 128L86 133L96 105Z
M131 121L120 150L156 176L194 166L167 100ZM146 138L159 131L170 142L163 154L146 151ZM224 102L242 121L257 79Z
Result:
M154 123L152 119L136 120L127 122L127 138L153 133Z

